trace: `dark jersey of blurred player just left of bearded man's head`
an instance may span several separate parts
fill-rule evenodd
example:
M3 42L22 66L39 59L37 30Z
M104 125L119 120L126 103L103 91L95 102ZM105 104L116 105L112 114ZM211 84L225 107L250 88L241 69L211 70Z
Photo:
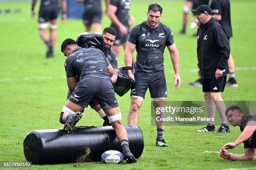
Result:
M117 7L115 15L117 16L120 23L123 25L128 25L131 0L110 0L110 4Z

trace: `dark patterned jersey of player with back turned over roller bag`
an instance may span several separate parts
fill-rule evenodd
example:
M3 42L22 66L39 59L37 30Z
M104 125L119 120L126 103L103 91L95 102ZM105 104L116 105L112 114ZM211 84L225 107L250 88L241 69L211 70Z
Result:
M87 75L110 78L107 71L108 65L110 63L101 50L77 47L67 57L64 67L67 78L79 75L81 80Z

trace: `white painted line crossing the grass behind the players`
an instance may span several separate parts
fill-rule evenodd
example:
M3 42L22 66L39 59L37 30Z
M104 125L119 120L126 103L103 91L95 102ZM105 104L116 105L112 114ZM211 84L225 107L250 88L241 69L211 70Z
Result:
M247 70L256 70L256 67L236 67L236 71L247 71ZM180 72L197 72L197 69L193 70L181 70ZM169 70L166 73L174 73L173 70ZM64 76L63 76L64 77ZM52 76L33 76L33 77L21 77L21 78L0 78L0 82L7 82L7 81L20 81L20 80L50 80L56 77ZM59 77L58 77L59 78Z

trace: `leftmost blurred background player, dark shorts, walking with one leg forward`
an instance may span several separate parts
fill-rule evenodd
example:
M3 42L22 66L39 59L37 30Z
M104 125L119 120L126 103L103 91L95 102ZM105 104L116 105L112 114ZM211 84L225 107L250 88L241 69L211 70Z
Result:
M35 5L37 0L32 0L31 17L35 17ZM61 20L67 19L67 3L61 0L62 15ZM40 10L38 13L38 29L41 39L46 44L46 57L54 57L54 47L56 44L57 17L59 14L59 0L41 0ZM50 38L46 29L49 27Z

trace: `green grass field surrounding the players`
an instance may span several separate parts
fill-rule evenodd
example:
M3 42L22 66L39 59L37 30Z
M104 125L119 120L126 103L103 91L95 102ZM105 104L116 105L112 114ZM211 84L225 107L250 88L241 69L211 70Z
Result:
M136 24L146 20L148 5L155 1L132 1L131 14ZM197 79L196 40L191 35L195 30L188 28L187 35L178 35L182 26L183 0L157 1L163 8L161 22L172 28L174 40L180 54L180 75L182 84L174 89L173 68L169 52L165 52L165 71L169 97L166 100L201 100L200 87L188 87L187 83ZM37 4L38 11L39 3ZM231 0L233 38L230 41L231 52L236 63L236 79L239 87L226 87L224 100L255 100L256 91L256 17L255 0ZM23 139L31 130L62 128L59 113L66 101L67 83L64 61L60 52L61 42L76 38L84 31L81 20L59 22L57 29L56 57L46 59L46 47L40 40L36 20L31 20L31 2L0 2L0 8L19 8L19 14L0 15L0 161L26 161L23 154ZM192 21L192 17L191 17ZM103 18L102 28L110 25ZM124 66L123 50L118 62ZM126 124L130 106L127 93L119 97L118 102ZM150 95L146 94L139 114L138 126L144 135L144 151L138 162L133 165L105 165L102 163L80 163L83 169L230 169L256 167L256 162L230 161L219 157L218 150L223 144L233 142L240 134L238 127L231 128L228 134L195 133L201 126L168 126L164 139L168 148L156 148L156 127L151 126ZM216 115L218 116L218 114ZM78 125L102 125L97 113L90 108ZM217 126L218 128L218 126ZM243 145L230 151L243 154ZM73 169L74 164L33 165L36 170Z

